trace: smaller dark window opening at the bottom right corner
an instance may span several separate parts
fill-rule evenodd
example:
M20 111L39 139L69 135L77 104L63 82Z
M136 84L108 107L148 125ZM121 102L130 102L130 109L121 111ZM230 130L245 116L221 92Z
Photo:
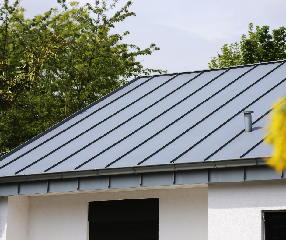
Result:
M265 240L286 240L286 211L264 212Z

